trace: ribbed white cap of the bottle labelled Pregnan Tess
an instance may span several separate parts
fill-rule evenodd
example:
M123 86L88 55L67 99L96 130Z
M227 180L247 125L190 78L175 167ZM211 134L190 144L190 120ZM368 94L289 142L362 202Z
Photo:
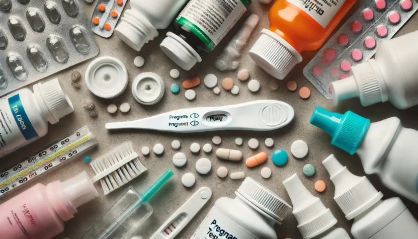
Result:
M280 223L292 207L275 193L252 178L245 178L235 192Z

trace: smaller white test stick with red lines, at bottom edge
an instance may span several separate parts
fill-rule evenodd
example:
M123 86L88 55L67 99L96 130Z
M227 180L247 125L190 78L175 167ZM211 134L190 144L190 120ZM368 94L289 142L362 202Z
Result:
M212 196L208 187L200 188L149 239L173 239L195 217Z

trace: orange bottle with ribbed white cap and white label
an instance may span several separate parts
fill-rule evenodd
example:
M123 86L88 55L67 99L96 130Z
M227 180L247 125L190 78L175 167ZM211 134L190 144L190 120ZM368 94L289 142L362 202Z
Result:
M278 0L270 10L270 28L249 51L269 74L283 79L302 61L302 51L318 49L356 0Z

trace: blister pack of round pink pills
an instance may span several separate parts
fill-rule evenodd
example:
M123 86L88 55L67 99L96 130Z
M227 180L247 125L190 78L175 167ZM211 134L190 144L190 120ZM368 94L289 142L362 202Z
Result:
M326 99L332 99L331 83L349 77L353 65L370 59L416 10L415 0L366 0L305 66L303 74Z

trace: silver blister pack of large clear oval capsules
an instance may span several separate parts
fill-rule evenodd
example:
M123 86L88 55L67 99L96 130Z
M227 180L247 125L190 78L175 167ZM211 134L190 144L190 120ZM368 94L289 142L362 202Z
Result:
M0 0L0 95L99 54L78 0Z

